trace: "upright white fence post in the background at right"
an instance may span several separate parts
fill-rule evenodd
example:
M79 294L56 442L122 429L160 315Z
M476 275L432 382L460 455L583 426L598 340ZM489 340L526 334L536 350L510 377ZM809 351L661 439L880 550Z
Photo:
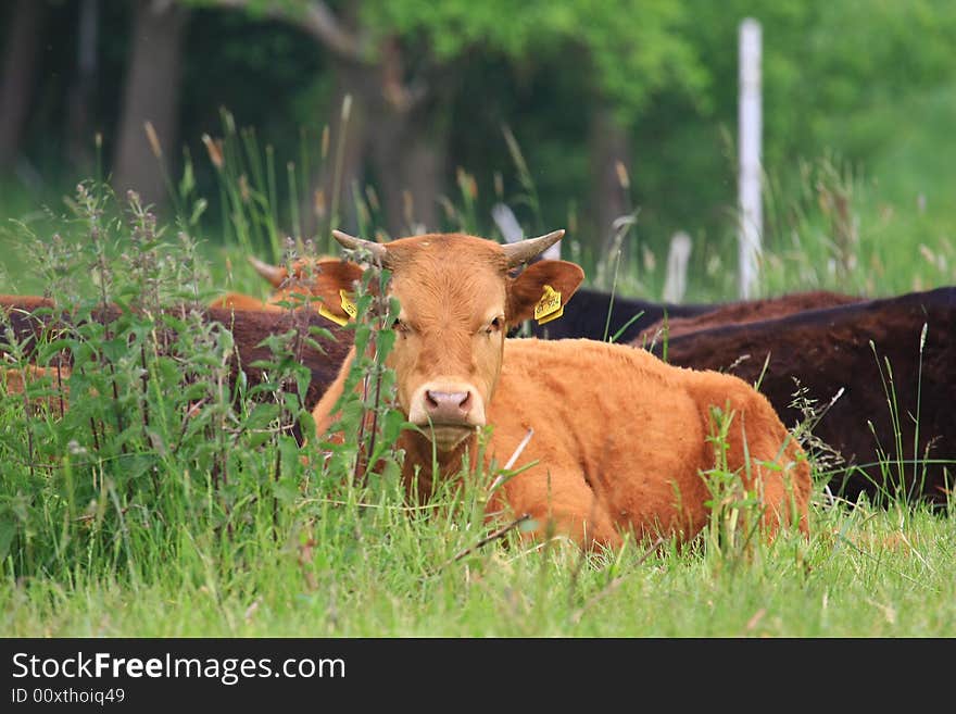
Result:
M760 204L760 23L740 24L740 103L738 160L740 162L740 297L754 297L764 217Z

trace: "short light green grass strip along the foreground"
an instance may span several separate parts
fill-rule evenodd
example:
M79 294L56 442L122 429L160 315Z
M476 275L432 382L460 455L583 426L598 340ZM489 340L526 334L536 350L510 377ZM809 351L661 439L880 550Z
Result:
M0 588L4 636L952 637L952 519L817 511L810 541L754 562L633 546L582 561L566 543L512 543L444 564L469 539L397 504L360 533L244 547L201 534L138 559L135 577L51 573ZM373 518L372 521L376 521ZM356 523L362 518L356 518ZM407 523L402 523L407 522ZM240 550L236 543L235 550ZM310 550L311 549L311 550ZM143 553L143 555L149 555Z

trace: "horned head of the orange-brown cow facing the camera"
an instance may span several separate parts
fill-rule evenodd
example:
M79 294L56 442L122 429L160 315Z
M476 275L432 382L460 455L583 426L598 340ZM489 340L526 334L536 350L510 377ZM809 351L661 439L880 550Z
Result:
M387 364L395 371L402 411L442 452L486 424L508 327L533 316L545 286L549 295L561 293L555 300L563 306L584 277L565 261L540 261L510 275L561 240L564 230L511 245L462 234L389 243L334 235L391 271L389 290L401 312Z

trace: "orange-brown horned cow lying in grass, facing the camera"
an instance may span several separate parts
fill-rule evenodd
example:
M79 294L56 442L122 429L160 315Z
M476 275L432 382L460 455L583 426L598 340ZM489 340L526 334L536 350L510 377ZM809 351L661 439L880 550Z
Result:
M708 441L717 408L732 414L726 467L758 493L765 533L794 521L807 531L809 466L770 403L743 380L674 367L626 346L505 339L508 326L536 311L554 314L583 279L565 261L508 275L563 230L508 246L462 234L386 245L334 235L392 271L401 313L387 363L399 406L418 427L400 436L410 490L427 494L435 478L460 476L466 454L471 464L479 453L502 464L531 431L515 464L528 468L494 491L489 514L529 514L536 535L553 529L582 546L615 547L626 533L685 540L709 516L702 473L717 466ZM327 300L352 286L332 287ZM353 358L313 412L320 437ZM485 426L491 434L479 452Z

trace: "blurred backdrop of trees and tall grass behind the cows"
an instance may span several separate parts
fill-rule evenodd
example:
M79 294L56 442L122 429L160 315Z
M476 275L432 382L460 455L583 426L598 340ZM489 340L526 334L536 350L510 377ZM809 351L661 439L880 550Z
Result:
M956 283L952 0L2 0L0 291L79 181L242 254L566 227L592 286L738 296L738 33L763 37L757 291ZM226 256L228 261L218 260Z

